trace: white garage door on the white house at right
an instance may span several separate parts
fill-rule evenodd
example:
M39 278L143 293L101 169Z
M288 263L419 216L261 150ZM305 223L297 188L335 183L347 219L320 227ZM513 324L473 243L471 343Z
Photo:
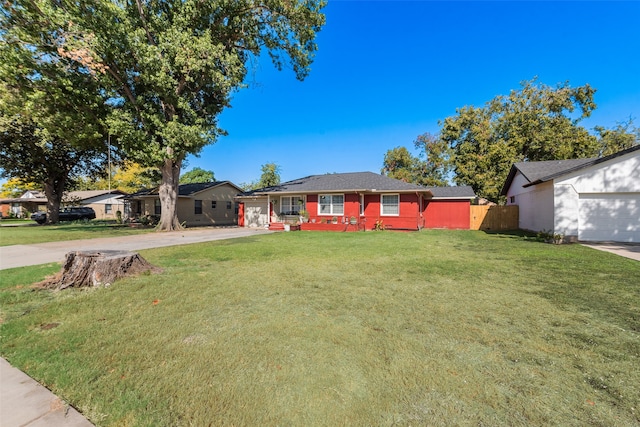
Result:
M578 239L640 242L640 193L581 194Z

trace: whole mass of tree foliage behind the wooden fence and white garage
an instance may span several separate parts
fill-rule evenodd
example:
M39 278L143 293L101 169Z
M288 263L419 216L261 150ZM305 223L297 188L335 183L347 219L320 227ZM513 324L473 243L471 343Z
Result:
M631 120L594 133L580 125L596 108L595 92L588 84L524 81L482 107L458 108L440 122L440 135L420 135L414 144L422 157L402 147L388 151L383 173L423 185L452 179L497 202L513 163L599 157L638 144L640 132Z

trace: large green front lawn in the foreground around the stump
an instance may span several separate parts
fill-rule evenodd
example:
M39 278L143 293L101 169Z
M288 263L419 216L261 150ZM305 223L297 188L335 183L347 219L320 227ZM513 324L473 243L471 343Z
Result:
M142 251L0 276L0 353L100 426L640 424L640 263L473 231Z

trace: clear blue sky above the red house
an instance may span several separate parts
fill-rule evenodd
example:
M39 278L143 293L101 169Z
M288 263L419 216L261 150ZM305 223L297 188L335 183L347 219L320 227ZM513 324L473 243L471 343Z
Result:
M283 181L379 172L387 150L413 151L456 108L535 76L596 88L588 129L630 116L640 126L640 2L329 0L324 12L309 77L278 72L268 57L254 63L220 117L229 135L183 172L236 184L269 162Z

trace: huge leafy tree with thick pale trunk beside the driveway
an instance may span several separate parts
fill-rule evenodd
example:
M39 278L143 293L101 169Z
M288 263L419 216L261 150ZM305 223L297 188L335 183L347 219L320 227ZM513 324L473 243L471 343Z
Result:
M20 31L43 35L29 49L51 46L101 83L101 93L111 96L109 128L125 158L162 172L158 229L174 230L181 228L176 202L185 157L224 135L218 116L260 54L300 80L307 76L324 6L323 0L15 0L5 3L4 15Z

